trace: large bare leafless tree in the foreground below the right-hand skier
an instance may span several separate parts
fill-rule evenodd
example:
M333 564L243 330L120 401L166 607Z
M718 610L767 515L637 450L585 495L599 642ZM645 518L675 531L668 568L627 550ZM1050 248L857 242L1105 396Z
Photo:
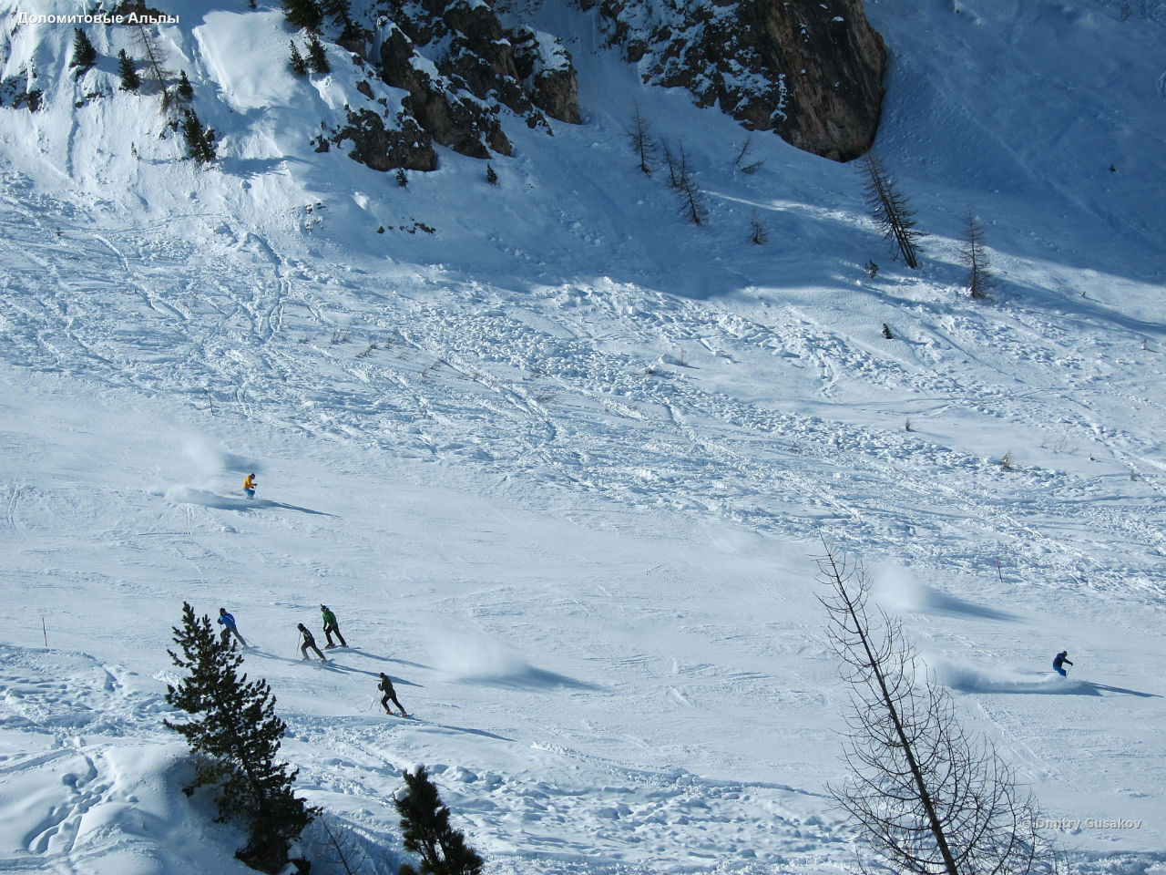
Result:
M851 691L851 775L830 792L874 853L916 875L1055 875L1060 859L1037 830L1032 798L990 742L963 732L899 622L871 615L862 565L826 546L819 582Z

